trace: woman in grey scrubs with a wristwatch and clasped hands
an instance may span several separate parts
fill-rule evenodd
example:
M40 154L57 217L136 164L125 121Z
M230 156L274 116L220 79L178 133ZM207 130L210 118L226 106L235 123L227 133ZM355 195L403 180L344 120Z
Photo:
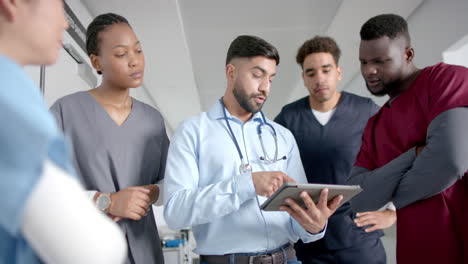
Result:
M151 205L159 197L169 140L161 114L129 95L143 82L141 44L127 20L110 13L96 17L86 37L102 83L57 100L51 111L72 140L90 199L126 234L127 263L163 263Z

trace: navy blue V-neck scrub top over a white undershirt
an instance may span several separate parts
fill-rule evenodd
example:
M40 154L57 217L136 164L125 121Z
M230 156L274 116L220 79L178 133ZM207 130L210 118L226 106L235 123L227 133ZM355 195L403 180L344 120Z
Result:
M291 130L296 138L309 183L346 184L367 121L378 110L371 99L342 92L335 113L322 125L306 96L284 106L275 122ZM373 233L377 237L383 234ZM353 212L346 203L329 219L324 239L315 243L324 250L343 249L369 235L353 223Z

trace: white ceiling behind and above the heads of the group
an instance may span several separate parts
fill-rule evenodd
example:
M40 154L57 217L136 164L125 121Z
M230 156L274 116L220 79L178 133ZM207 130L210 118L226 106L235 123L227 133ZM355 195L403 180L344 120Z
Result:
M281 63L264 107L270 117L306 94L295 63L299 46L314 35L340 45L341 86L359 77L359 28L380 13L408 17L423 0L82 0L93 16L115 12L137 32L146 54L144 87L174 129L206 111L224 93L225 56L238 35L275 45Z

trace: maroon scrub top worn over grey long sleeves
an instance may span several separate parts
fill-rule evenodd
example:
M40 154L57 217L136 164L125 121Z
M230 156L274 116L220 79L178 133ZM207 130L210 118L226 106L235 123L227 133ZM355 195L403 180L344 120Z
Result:
M406 91L369 120L355 166L374 170L425 145L431 121L463 106L468 106L467 68L439 63L423 69ZM399 264L468 263L466 174L444 192L397 210Z

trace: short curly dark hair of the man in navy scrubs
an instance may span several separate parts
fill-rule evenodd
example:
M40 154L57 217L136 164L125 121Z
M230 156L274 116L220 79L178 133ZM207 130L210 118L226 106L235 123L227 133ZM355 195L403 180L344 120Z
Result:
M309 39L297 51L296 62L301 66L304 64L304 60L307 56L313 53L330 53L335 60L335 64L338 65L340 60L341 50L336 44L335 40L330 37L315 36L313 39Z

